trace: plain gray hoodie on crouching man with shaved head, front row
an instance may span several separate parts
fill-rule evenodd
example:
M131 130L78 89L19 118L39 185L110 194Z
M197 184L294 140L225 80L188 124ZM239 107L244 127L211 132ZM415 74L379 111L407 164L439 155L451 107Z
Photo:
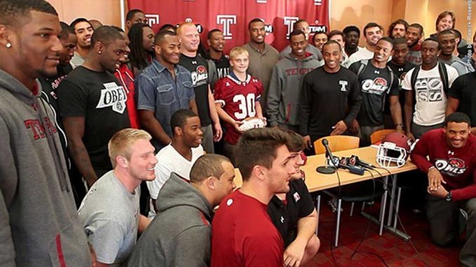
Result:
M209 266L213 210L208 200L172 172L159 193L157 209L126 266Z

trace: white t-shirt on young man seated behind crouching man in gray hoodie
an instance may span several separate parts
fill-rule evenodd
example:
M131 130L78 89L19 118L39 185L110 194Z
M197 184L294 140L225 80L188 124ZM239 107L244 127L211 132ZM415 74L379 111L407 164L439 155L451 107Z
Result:
M190 180L190 169L193 163L204 154L203 146L199 145L192 148L192 160L184 158L172 144L168 144L155 155L157 164L155 165L155 179L147 181L147 188L149 189L150 198L157 200L160 189L167 182L170 174L175 172L180 177ZM151 205L149 217L154 217L155 212Z

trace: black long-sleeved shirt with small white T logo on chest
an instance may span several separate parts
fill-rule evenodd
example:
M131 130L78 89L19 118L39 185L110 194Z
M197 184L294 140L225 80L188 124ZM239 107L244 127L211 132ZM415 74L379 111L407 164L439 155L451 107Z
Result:
M343 67L336 73L324 67L310 71L303 78L300 95L300 134L314 141L330 135L338 121L350 127L361 102L359 81L352 71Z

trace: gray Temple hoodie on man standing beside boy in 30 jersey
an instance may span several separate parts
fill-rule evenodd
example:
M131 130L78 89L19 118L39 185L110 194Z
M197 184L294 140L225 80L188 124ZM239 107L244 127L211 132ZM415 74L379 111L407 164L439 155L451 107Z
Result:
M321 66L322 62L310 53L306 53L303 60L298 60L289 53L277 62L272 70L267 94L267 118L270 126L299 124L299 96L303 77Z

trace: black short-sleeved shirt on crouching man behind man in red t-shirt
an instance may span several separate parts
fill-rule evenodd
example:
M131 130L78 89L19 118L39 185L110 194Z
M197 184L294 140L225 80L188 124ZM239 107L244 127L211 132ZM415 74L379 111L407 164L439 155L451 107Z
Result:
M303 179L291 180L289 192L286 193L286 203L277 196L271 198L267 205L267 214L276 226L287 247L296 239L298 220L306 217L314 210L311 195Z

